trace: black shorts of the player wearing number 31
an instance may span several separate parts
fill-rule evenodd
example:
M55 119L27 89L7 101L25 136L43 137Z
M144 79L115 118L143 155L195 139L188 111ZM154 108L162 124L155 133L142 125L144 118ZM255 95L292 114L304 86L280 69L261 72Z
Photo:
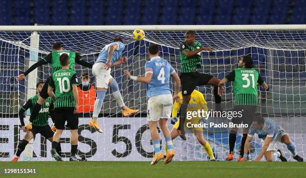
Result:
M237 112L241 111L242 116L232 118L231 122L234 124L240 124L243 122L243 124L247 124L249 128L255 116L256 105L235 105L233 110Z

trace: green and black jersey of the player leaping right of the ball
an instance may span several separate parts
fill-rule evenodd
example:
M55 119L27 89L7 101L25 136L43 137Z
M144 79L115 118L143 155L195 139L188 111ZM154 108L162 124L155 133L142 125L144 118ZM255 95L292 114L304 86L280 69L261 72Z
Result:
M201 52L192 57L187 57L183 54L183 50L195 50L202 47L202 44L198 41L194 41L193 45L187 44L185 41L180 43L179 56L180 56L180 70L182 73L194 71L196 68L200 68L202 64Z

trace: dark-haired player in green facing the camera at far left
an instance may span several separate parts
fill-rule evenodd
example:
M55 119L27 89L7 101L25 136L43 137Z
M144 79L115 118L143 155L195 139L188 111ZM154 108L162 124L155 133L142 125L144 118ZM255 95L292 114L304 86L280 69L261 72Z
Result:
M21 106L18 115L21 123L21 128L24 132L26 132L23 136L23 139L18 143L17 151L11 161L17 161L21 152L24 150L25 146L27 145L28 141L32 138L35 139L35 135L37 133L40 133L42 136L44 136L49 141L53 141L52 137L54 132L51 130L50 126L48 125L48 112L50 113L50 116L52 120L54 120L54 111L53 111L53 101L50 97L48 97L45 102L42 104L41 109L38 113L38 115L35 117L35 119L32 122L32 127L25 128L24 121L23 121L23 114L27 109L30 109L30 112L32 112L33 106L35 105L36 101L38 100L38 97L40 95L41 88L43 87L44 82L40 81L36 84L36 91L38 92L37 95L29 98L24 105ZM56 147L56 152L60 155L61 154L61 148L60 144Z

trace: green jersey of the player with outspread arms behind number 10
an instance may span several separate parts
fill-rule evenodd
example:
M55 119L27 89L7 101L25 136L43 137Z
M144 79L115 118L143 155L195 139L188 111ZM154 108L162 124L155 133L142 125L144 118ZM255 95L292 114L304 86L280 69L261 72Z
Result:
M42 58L42 60L51 63L52 65L52 73L54 73L55 71L61 69L61 65L59 63L59 56L63 53L66 53L69 55L69 61L70 61L70 65L69 68L71 70L74 70L74 64L75 61L79 61L82 60L82 57L73 51L68 51L68 50L55 50L50 52L48 55L46 55L45 57Z

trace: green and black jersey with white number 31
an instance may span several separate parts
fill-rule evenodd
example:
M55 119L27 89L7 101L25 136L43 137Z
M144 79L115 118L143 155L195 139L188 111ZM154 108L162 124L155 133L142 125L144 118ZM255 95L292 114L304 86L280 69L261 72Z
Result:
M234 104L257 104L257 82L263 84L260 74L252 68L236 68L224 77L227 81L234 81Z

